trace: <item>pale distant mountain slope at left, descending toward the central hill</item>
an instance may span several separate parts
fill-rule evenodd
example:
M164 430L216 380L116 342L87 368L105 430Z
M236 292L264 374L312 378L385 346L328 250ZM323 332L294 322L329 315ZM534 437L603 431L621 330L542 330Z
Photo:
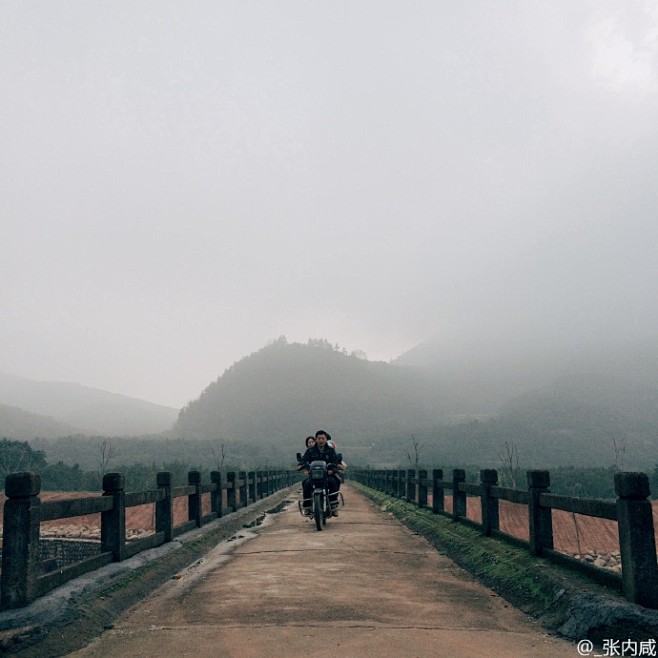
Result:
M74 433L110 436L164 432L171 429L178 413L171 407L79 384L38 382L4 373L0 373L0 404L78 428ZM29 423L23 436L28 427ZM0 433L9 435L2 426Z

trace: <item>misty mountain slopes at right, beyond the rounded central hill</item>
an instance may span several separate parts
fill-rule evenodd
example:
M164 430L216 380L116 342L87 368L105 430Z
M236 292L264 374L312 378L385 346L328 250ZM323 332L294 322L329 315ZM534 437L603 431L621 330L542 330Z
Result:
M653 344L609 341L561 350L536 345L533 352L489 348L448 352L433 340L396 362L422 370L435 385L454 382L453 410L460 408L465 418L437 431L434 445L442 454L459 458L470 451L491 462L505 442L513 442L522 463L534 467L653 464L658 449Z

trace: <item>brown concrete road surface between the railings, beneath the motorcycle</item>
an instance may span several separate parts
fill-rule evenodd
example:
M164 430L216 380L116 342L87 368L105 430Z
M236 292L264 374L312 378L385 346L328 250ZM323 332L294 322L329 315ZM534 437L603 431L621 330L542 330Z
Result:
M578 655L348 485L343 492L346 507L321 532L291 496L71 655Z

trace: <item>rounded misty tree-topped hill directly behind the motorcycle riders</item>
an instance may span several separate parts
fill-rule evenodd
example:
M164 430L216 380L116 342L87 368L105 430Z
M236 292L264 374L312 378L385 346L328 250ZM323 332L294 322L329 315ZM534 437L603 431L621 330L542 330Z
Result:
M300 446L326 428L368 443L438 418L437 396L415 369L348 355L324 340L279 339L235 363L185 407L174 436Z

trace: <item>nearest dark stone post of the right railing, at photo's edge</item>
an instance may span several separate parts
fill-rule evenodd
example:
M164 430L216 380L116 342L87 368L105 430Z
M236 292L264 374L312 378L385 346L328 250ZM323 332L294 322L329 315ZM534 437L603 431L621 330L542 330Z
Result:
M615 493L624 596L646 608L658 608L649 478L645 473L615 473Z

